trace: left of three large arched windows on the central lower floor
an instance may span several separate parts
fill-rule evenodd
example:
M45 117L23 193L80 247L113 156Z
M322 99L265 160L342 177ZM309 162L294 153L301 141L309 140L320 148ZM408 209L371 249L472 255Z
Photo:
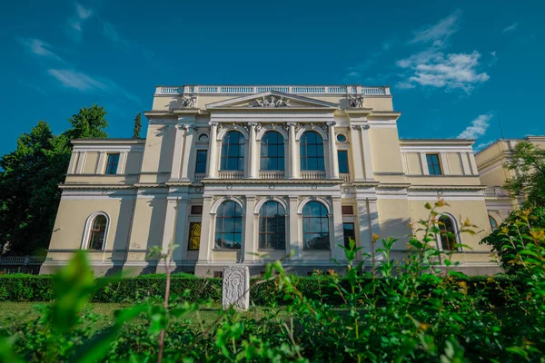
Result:
M224 201L216 214L215 248L240 250L243 242L243 209Z

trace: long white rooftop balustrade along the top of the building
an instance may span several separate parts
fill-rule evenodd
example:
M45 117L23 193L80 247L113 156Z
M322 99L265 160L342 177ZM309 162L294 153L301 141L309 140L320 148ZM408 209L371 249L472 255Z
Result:
M176 95L184 93L201 94L251 94L267 91L308 94L364 94L389 95L390 87L364 87L362 85L182 85L157 86L155 94Z

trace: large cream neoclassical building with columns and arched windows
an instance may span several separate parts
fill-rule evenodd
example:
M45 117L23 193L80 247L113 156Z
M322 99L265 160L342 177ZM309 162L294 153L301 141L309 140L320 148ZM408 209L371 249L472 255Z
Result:
M145 115L145 139L74 140L43 271L80 249L97 274L163 270L146 252L173 242L176 270L259 274L284 258L306 274L335 268L348 237L371 253L373 233L400 239L401 258L438 197L468 247L437 246L461 270L497 270L478 243L490 223L473 141L400 139L389 87L158 86ZM466 218L476 235L459 233Z

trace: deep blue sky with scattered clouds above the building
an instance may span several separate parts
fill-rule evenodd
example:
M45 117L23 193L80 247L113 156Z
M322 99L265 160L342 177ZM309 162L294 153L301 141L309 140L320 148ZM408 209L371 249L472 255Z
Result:
M455 4L454 4L455 3ZM321 5L323 4L323 5ZM402 138L544 134L545 3L28 1L3 6L0 154L98 103L130 137L154 85L391 85Z

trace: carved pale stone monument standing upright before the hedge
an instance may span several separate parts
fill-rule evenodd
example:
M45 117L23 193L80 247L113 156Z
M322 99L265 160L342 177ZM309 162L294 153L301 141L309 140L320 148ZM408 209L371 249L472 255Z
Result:
M250 270L247 266L229 266L223 269L223 309L250 308Z

